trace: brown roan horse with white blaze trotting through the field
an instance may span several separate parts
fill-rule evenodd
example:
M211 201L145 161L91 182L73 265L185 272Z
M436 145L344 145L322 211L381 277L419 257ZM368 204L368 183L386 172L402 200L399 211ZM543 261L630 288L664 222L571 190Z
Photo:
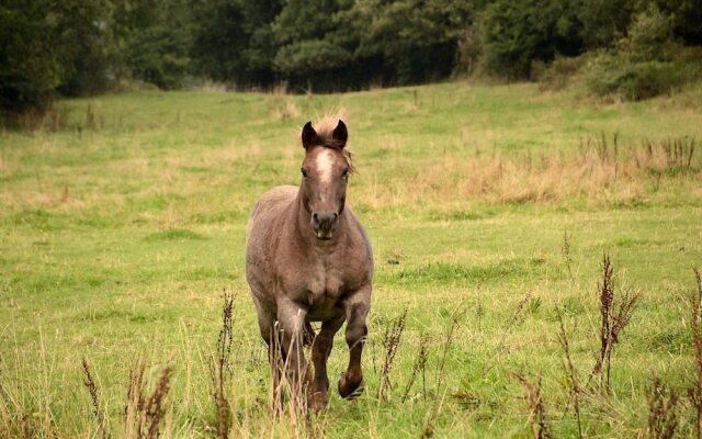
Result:
M297 394L303 405L320 410L329 401L327 360L344 322L349 365L338 391L349 398L363 390L361 357L367 337L373 251L346 202L353 172L346 149L347 125L326 117L316 126L307 122L302 130L305 157L299 187L269 190L251 212L246 279L269 347L274 389L283 375L282 358L293 398ZM316 336L310 322L321 322ZM314 376L303 348L312 337Z

